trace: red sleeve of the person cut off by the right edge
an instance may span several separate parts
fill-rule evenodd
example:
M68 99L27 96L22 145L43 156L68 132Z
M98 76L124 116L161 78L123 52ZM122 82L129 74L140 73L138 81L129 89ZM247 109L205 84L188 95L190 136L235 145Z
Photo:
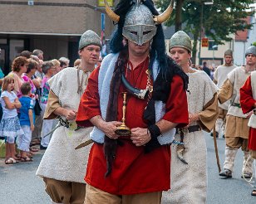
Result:
M244 114L249 113L254 109L256 100L253 98L251 76L245 81L240 89L240 104Z

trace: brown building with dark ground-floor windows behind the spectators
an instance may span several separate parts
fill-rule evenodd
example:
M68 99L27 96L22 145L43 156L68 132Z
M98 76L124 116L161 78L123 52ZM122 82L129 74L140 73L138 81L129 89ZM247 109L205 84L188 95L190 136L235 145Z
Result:
M40 49L44 59L78 57L78 41L83 32L93 30L101 36L98 0L10 0L0 1L0 67L7 74L12 60L23 50ZM105 36L113 24L105 17Z

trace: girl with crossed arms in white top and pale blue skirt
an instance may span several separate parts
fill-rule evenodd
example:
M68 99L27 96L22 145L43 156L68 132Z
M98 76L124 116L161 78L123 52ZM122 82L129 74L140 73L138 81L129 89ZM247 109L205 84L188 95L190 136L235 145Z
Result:
M7 75L2 81L1 104L3 114L0 124L0 136L6 138L6 164L17 163L15 138L24 134L17 118L17 109L21 107L21 103L13 89L14 79L12 75Z

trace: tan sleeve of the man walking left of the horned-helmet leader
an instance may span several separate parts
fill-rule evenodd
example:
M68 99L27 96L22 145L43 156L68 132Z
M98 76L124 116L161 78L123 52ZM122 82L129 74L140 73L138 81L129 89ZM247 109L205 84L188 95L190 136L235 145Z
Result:
M47 101L47 109L45 110L43 119L56 119L57 114L54 114L53 112L59 107L61 107L59 98L53 93L52 90L50 90Z

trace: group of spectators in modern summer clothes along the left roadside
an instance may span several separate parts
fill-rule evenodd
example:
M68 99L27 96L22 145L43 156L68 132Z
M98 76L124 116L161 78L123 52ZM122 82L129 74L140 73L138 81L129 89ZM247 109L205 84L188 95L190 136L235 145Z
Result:
M76 61L76 67L79 65ZM2 76L0 136L6 141L6 164L32 162L33 153L39 150L34 145L47 148L57 124L56 120L42 119L50 90L48 80L68 66L66 57L43 61L41 50L22 51L12 61L12 71Z

